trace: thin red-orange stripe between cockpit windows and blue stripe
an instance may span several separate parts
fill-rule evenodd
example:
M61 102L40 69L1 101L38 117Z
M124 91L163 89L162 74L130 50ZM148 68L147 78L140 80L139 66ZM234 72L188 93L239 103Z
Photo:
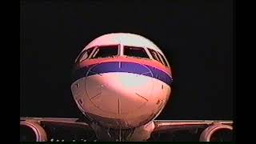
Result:
M87 59L85 61L78 63L75 66L75 69L78 70L82 67L90 66L90 65L94 65L94 64L102 63L102 62L135 62L135 63L139 63L139 64L146 65L146 66L152 66L154 68L157 68L159 70L166 72L167 74L170 74L170 76L171 76L170 68L163 66L162 63L160 63L156 60L151 60L151 59L146 59L146 58L145 59L144 58L131 58L131 57L126 57L126 56L118 56L118 57L114 57L114 58Z

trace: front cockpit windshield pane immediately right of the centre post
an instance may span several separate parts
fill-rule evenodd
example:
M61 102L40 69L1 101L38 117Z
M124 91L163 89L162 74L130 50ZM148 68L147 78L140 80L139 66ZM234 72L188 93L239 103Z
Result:
M123 54L130 57L150 58L142 47L124 46Z

